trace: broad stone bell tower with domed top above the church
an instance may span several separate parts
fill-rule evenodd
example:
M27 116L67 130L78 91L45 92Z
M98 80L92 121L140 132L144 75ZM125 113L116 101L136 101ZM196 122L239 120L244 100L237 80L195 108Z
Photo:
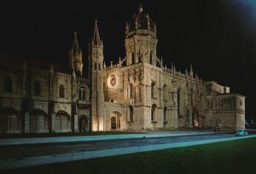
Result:
M157 42L156 25L148 14L143 12L143 7L140 5L131 22L126 23L126 65L141 62L156 65Z

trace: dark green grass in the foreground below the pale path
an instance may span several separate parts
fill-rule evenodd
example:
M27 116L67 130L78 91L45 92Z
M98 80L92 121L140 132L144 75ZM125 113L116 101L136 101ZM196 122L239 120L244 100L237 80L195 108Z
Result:
M256 138L32 166L0 173L255 173Z

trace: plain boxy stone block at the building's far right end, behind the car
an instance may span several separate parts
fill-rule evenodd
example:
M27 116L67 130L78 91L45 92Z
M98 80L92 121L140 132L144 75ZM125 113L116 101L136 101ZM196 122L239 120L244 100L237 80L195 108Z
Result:
M206 116L204 126L221 126L225 130L245 127L245 97L239 94L224 93L225 88L212 81L206 85ZM210 86L209 86L210 84ZM207 88L207 87L210 87ZM221 93L220 93L221 92Z

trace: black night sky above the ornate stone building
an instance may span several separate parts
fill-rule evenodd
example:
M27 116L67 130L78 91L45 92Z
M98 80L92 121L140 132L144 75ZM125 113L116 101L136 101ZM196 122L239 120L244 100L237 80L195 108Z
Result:
M125 22L142 3L157 24L157 55L167 67L173 62L184 72L192 64L204 81L231 87L247 97L247 120L256 120L255 0L7 2L0 5L0 53L61 65L67 65L73 31L86 64L96 19L107 65L124 58Z

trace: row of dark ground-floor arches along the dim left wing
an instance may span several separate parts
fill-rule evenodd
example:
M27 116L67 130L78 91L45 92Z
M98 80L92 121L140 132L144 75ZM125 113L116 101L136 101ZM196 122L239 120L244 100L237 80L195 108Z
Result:
M20 111L14 108L3 108L0 110L0 133L21 133L21 124L24 121ZM25 123L26 130L30 133L49 132L49 116L41 109L33 109ZM78 120L79 132L89 132L89 117L80 115ZM66 111L60 110L55 113L53 131L70 132L71 116Z

